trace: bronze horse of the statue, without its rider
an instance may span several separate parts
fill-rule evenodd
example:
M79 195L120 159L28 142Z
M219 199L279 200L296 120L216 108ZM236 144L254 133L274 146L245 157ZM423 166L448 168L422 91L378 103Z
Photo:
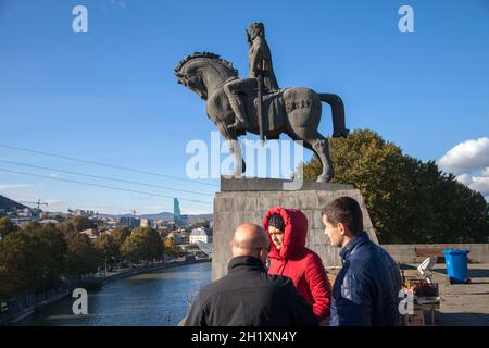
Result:
M235 113L224 91L224 85L238 78L238 71L233 63L221 59L217 54L196 52L186 57L176 67L175 75L178 83L187 86L203 100L208 116L216 124L221 135L228 141L229 150L236 160L233 173L235 177L241 176L246 171L241 148L237 141L238 136L250 132L260 134L258 120L258 88L251 80L251 87L240 94L250 120L246 129L230 128L235 122ZM324 101L331 107L334 137L347 136L344 128L344 107L336 95L316 94L303 87L280 89L263 97L262 129L268 139L278 139L279 134L287 134L292 140L302 140L302 145L312 150L323 164L323 172L317 182L329 182L335 175L329 157L328 140L317 130L321 121L322 104ZM264 125L263 125L264 124Z

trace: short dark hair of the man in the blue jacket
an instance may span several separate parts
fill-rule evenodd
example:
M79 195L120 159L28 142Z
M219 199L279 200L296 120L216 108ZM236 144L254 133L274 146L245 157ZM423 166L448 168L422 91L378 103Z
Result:
M329 223L342 223L353 235L363 232L363 215L359 203L351 197L339 197L329 202L321 211Z

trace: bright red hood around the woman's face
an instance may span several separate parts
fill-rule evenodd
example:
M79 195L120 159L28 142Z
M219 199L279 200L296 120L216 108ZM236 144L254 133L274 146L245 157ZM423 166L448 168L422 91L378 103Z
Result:
M284 260L302 254L305 251L308 217L305 217L303 212L297 209L285 209L281 207L272 208L266 213L265 219L263 219L263 228L265 228L266 232L268 232L268 220L274 214L279 214L284 220L284 244L280 251L277 250L268 234L269 245L272 247L268 257Z

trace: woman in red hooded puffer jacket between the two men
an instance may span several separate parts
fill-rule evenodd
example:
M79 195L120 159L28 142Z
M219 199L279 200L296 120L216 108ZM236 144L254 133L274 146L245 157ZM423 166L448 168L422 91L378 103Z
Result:
M305 247L308 217L297 209L272 208L263 220L271 238L268 273L288 276L318 321L329 316L331 285L321 258Z

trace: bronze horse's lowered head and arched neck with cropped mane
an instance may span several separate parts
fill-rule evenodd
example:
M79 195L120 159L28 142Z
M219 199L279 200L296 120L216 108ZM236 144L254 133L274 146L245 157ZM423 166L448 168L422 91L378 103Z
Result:
M196 52L175 66L175 75L178 84L190 88L200 98L206 100L210 88L215 88L216 84L224 84L228 78L238 76L238 71L230 62L221 59L217 54Z

